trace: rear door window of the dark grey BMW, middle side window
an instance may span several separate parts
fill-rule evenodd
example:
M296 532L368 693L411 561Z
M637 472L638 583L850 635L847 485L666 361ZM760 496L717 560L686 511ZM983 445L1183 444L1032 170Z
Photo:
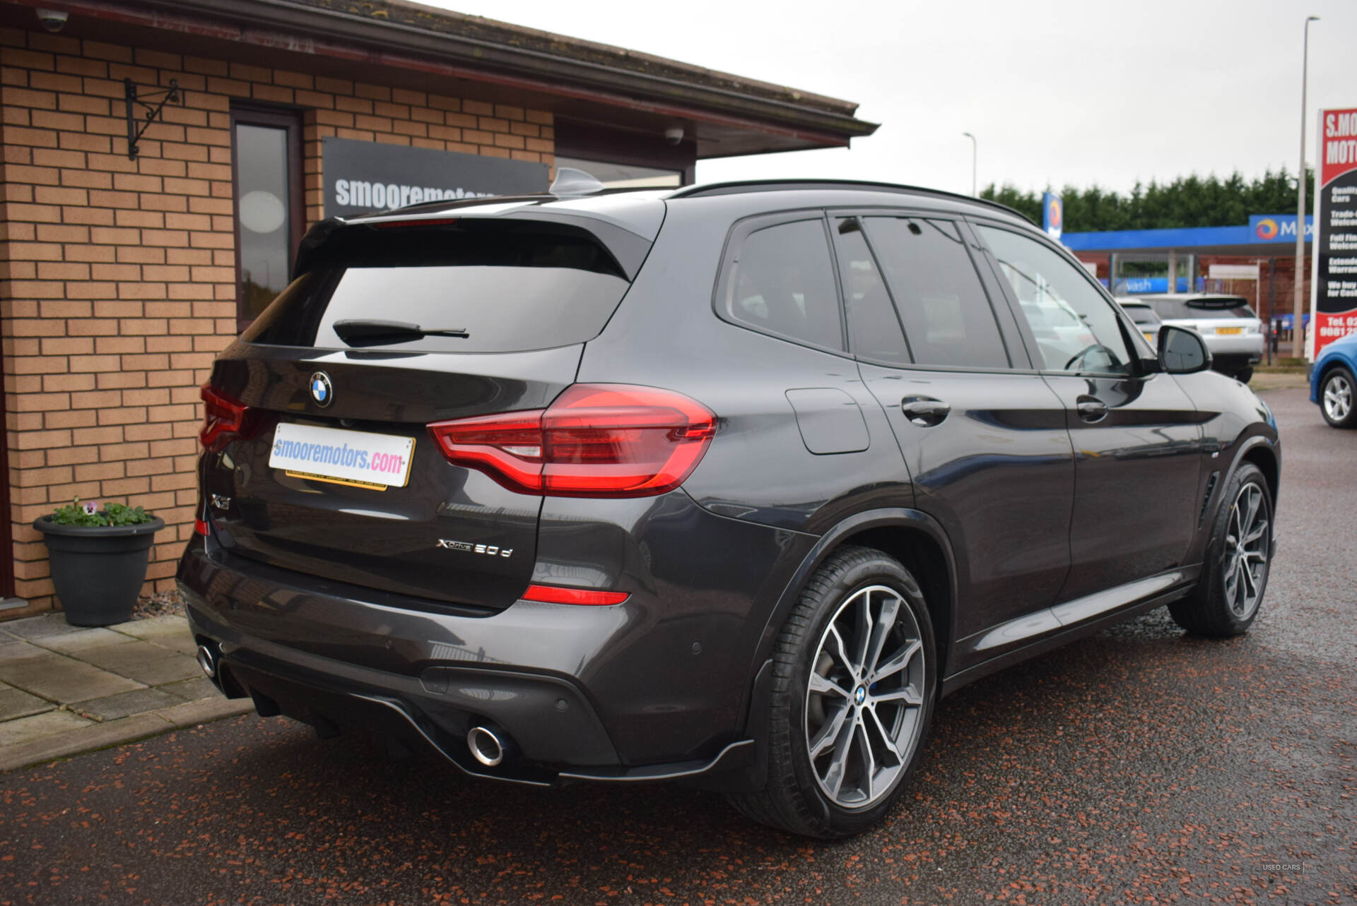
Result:
M955 224L919 217L864 222L915 362L1008 368L995 312Z

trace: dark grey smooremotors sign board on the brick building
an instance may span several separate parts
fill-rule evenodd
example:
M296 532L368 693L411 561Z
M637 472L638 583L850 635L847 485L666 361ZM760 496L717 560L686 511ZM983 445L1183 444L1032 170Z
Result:
M326 217L404 208L426 201L547 191L547 165L433 148L326 138Z

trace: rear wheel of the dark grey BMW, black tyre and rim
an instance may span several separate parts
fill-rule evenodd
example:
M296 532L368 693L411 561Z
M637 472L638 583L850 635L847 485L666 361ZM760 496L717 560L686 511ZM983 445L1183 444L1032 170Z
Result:
M858 674L862 677L860 682L852 681L851 692L847 692L845 684L840 685L839 692L845 692L841 712L848 715L840 716L837 693L813 692L809 685L810 674L814 670L825 681L849 675L848 669L840 663L843 659L829 656L822 644L832 646L830 623L836 624L837 632L841 620L859 614L854 608L863 608L870 614L874 606L878 608L874 625L886 623L881 616L887 606L893 608L896 616L890 621L889 637L875 644L877 656L866 654L875 642L873 627L868 627L864 636L867 643L863 644L864 656L860 658L868 666ZM912 620L905 617L905 609ZM860 633L854 632L849 639L844 639L844 646L849 651L856 650L859 637ZM837 651L843 654L844 647ZM852 656L847 659L851 661ZM889 665L896 662L904 666L892 670ZM887 671L889 678L885 677ZM867 830L885 818L909 784L928 736L936 689L936 647L919 583L904 566L881 551L840 548L810 576L776 643L767 701L768 724L764 727L768 783L759 792L730 795L731 804L757 822L805 837L832 840ZM917 704L904 701L905 696L917 700ZM889 698L894 701L887 701ZM860 723L849 724L849 719ZM820 764L824 764L825 755L830 762L828 781L810 754L811 724L818 724L821 738L835 741L835 745L818 755ZM862 736L858 735L859 730ZM897 738L893 739L890 732ZM868 761L863 754L863 745L870 750L883 739L893 739L893 749L900 758L883 751L887 757L879 764ZM854 750L854 746L858 749ZM858 753L854 765L835 773L832 764L837 761L848 765L848 757L854 751ZM847 773L855 774L852 783L856 785L849 792L844 792L849 783ZM881 787L874 789L878 776ZM862 792L860 787L866 787L860 806L845 806L826 792L822 784L832 784L835 777L839 780L835 788L840 799L849 799L854 792Z

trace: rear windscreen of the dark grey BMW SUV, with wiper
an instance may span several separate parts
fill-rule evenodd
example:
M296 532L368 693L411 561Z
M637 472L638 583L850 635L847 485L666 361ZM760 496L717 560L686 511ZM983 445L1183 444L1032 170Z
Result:
M630 286L588 231L539 221L345 226L309 250L305 267L243 340L411 353L551 349L597 336Z

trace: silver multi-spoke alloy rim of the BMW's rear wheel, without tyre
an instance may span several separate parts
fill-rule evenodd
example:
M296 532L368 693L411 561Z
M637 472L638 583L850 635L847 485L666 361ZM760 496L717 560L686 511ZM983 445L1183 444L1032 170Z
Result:
M848 595L825 627L806 688L806 751L820 791L844 808L890 793L923 731L923 635L898 591Z

